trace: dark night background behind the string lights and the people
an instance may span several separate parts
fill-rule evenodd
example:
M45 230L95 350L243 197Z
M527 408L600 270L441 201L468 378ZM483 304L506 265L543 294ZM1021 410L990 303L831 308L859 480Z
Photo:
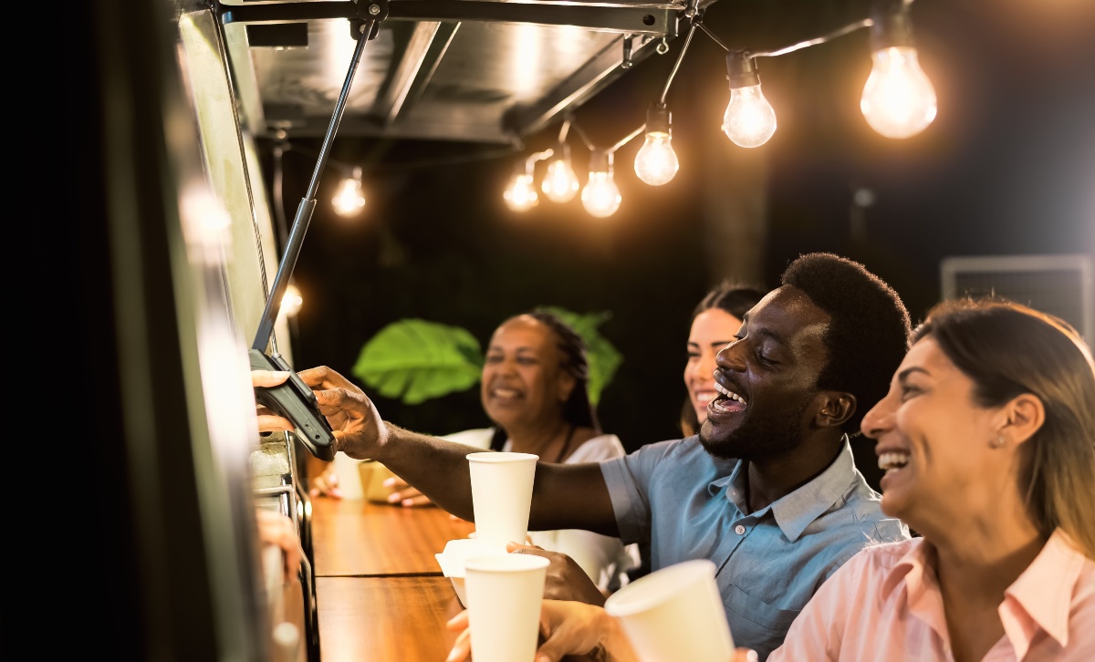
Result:
M722 0L705 24L757 51L826 34L864 18L863 7ZM761 58L779 128L748 153L719 130L729 97L724 51L698 33L668 96L680 171L666 186L646 186L632 167L642 139L623 147L615 158L623 204L608 219L587 214L577 198L562 206L542 199L525 214L505 207L515 161L550 146L558 125L503 156L499 146L338 137L332 159L365 166L368 205L354 221L330 211L324 201L338 174L328 169L295 272L304 297L295 364L351 376L365 341L403 317L462 326L485 345L502 320L535 305L609 311L600 330L624 359L599 414L604 430L634 450L679 435L689 315L724 275L771 287L798 254L831 251L890 282L915 322L940 298L946 256L1095 258L1093 8L1090 0L915 2L913 30L938 116L908 140L876 135L860 113L867 31ZM682 42L575 113L596 144L610 146L644 121ZM586 150L573 131L569 142L585 184ZM264 166L269 147L260 141ZM700 176L734 151L733 167ZM292 219L314 159L290 151L284 163ZM742 172L761 173L764 183L751 197L766 209L765 239L746 247L760 256L753 274L705 257L710 207L701 201ZM860 187L875 204L864 210L865 231L854 233ZM414 407L376 400L385 418L423 432L488 425L477 388Z

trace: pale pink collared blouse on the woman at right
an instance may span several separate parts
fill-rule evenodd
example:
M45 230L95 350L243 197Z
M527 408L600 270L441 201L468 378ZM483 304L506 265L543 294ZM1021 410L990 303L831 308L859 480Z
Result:
M867 547L795 618L769 662L954 660L923 538ZM1095 661L1095 561L1061 530L1004 592L1004 636L986 661Z

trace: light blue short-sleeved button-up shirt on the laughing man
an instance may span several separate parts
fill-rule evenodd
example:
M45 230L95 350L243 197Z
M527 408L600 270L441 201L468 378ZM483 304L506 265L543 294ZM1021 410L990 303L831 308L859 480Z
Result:
M647 444L601 463L620 536L650 542L650 569L706 558L718 568L736 646L763 660L837 568L864 547L909 537L879 509L848 439L821 474L746 512L740 461L712 457L699 437Z

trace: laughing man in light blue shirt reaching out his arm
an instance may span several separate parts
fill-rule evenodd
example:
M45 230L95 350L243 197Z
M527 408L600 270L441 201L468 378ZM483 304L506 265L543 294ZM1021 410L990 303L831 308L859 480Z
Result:
M909 535L881 513L848 440L904 356L904 305L862 265L831 254L799 257L781 282L719 351L719 396L699 435L601 463L539 463L529 516L533 531L586 529L648 542L653 570L713 560L735 642L761 659L844 561ZM316 390L337 450L383 462L437 504L472 519L466 446L383 421L328 368L301 378ZM546 596L603 604L590 583L553 558Z

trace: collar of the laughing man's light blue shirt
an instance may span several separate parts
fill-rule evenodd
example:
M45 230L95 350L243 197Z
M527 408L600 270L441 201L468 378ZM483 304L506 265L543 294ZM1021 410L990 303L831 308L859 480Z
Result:
M737 506L742 513L751 514L747 513L745 509L744 472L746 466L746 463L739 460L728 476L712 480L707 486L707 491L715 495L722 488L727 487L727 499ZM763 514L770 509L783 535L788 541L795 542L810 522L818 519L843 498L848 486L852 484L854 478L855 461L852 457L852 446L845 434L843 446L837 453L837 458L823 472L795 491L776 499L759 514Z

